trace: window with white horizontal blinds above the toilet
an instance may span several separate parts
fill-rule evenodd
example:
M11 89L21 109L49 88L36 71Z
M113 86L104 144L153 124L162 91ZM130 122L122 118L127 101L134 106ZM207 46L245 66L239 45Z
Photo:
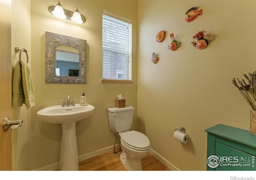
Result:
M132 21L103 11L102 80L132 80Z

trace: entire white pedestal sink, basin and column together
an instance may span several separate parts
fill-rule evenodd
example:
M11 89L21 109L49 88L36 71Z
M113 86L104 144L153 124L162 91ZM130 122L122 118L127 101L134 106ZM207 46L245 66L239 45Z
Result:
M76 121L90 116L94 111L94 106L62 107L50 106L39 110L37 116L50 123L62 124L62 141L60 150L60 170L79 170L78 152L76 142Z

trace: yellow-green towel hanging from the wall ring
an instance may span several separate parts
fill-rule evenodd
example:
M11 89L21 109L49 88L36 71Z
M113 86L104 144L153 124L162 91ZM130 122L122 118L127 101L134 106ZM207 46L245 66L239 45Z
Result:
M12 92L13 107L19 107L25 104L28 109L36 104L31 68L28 63L17 62L14 67Z

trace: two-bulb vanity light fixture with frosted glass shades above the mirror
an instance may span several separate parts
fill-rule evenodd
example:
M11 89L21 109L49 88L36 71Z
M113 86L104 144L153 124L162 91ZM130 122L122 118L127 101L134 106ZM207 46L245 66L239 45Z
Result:
M62 6L60 5L60 1L59 3L54 7L54 6L50 6L48 8L48 11L54 15L57 18L60 19L68 19L71 20L72 22L76 23L76 24L83 24L85 23L85 18L84 16L82 16L80 14L80 12L78 11L78 8L76 8L75 12L69 12L67 10L64 10L62 8Z

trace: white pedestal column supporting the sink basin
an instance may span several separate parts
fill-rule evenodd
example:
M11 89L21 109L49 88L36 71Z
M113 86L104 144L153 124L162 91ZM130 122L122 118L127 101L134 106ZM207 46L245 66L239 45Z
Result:
M62 123L60 149L60 170L78 171L78 152L76 142L76 122Z

